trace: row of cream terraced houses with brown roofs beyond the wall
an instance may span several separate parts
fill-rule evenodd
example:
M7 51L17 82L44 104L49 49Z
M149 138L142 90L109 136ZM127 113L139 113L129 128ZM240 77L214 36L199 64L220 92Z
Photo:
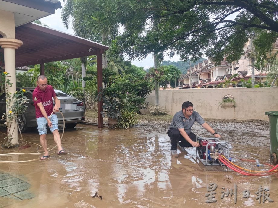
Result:
M233 78L232 81L237 82L236 87L241 87L240 80L248 80L252 76L252 59L250 58L250 52L252 49L252 42L247 41L244 45L244 55L238 61L233 61L229 63L224 58L223 61L220 62L220 65L216 65L215 61L212 58L208 58L208 60L204 60L202 63L198 63L191 68L191 83L192 87L205 87L205 88L213 88L216 87L221 82L224 82L225 79L229 79L233 74L238 74L237 77ZM273 44L272 54L277 52L278 50L278 40ZM278 56L278 55L277 55ZM255 71L255 82L258 83L260 77L262 77L262 81L266 80L267 72L260 74L259 71L254 69ZM179 80L179 87L181 88L190 88L190 73L189 70L186 74L184 74ZM200 83L200 79L202 79L202 83Z

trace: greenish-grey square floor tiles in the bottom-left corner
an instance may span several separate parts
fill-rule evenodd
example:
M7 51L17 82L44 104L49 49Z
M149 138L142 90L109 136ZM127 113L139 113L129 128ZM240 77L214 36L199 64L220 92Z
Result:
M11 201L33 198L34 194L28 191L29 188L29 183L0 171L0 207L10 205Z

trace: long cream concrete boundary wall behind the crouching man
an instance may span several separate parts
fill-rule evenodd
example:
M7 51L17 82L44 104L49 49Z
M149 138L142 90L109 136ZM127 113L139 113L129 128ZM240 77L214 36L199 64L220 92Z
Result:
M219 105L228 94L234 96L236 107ZM203 118L268 120L265 111L278 111L278 87L159 90L159 106L165 106L170 115L181 110L182 103L187 100ZM154 91L147 97L147 102L155 104Z

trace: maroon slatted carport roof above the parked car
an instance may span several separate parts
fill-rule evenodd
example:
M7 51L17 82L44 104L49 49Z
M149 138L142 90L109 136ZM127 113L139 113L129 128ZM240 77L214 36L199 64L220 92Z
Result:
M16 27L15 38L23 42L15 50L16 67L103 54L109 49L100 43L35 23Z

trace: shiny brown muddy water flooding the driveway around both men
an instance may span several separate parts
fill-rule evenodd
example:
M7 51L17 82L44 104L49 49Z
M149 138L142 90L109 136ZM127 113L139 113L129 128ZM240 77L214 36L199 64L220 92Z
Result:
M194 128L197 131L199 127ZM223 139L231 145L231 156L269 162L269 147L255 145L256 137L264 136L260 140L266 140L269 145L268 135L263 135L261 130L257 130L259 134L245 129L249 140L252 138L252 145L245 141L246 135L234 133L237 128L232 128L225 128ZM201 129L199 131L202 133ZM23 136L31 142L39 142L36 132ZM53 147L51 134L47 134L47 138L48 146ZM35 194L29 200L11 200L8 207L277 207L277 174L250 177L233 171L207 171L193 159L194 148L188 148L187 155L180 153L178 158L171 158L170 139L165 133L148 133L144 128L108 130L79 125L75 130L65 131L62 145L69 153L66 156L55 153L45 161L0 164L1 171L24 177ZM40 151L34 145L21 150ZM0 151L8 152L11 153L6 149ZM36 157L9 156L1 160ZM239 163L248 169L268 169L266 165L257 168L254 163ZM214 194L217 201L206 203L207 186L212 183L217 184ZM236 204L234 195L221 199L221 192L227 188L234 191L235 185ZM273 203L266 200L260 204L256 200L255 192L260 185L263 189L269 188L266 194L270 194ZM244 190L250 191L249 198L243 198ZM102 200L92 198L95 192L103 197Z

